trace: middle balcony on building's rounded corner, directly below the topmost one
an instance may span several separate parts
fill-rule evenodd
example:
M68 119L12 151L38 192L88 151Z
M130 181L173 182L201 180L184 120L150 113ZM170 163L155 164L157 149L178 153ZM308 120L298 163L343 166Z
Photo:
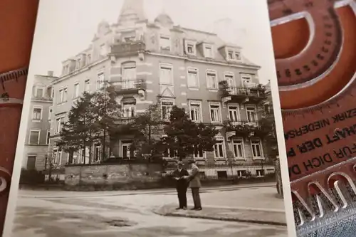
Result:
M144 79L122 79L110 82L117 94L135 94L139 90L146 90L146 80Z

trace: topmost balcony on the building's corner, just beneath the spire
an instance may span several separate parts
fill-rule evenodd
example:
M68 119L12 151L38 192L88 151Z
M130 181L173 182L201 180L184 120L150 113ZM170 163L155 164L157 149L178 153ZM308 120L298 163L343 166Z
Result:
M146 44L143 41L129 41L115 43L111 46L111 56L132 56L138 53L143 53L146 49Z

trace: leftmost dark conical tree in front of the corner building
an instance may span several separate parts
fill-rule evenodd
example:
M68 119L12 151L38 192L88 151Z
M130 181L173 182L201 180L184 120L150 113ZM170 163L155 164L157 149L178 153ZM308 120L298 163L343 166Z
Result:
M83 147L91 149L93 142L97 139L98 129L95 127L95 114L93 113L94 94L84 93L74 103L68 114L68 120L62 123L60 141L57 146L63 152L73 154ZM89 152L89 162L91 152ZM85 163L85 159L84 159Z

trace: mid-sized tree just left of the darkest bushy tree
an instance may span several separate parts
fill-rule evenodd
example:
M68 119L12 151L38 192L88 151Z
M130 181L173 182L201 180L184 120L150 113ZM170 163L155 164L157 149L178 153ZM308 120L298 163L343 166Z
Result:
M130 149L142 154L155 155L155 147L163 134L163 121L159 103L150 105L145 112L140 113L135 121L128 125L134 134Z

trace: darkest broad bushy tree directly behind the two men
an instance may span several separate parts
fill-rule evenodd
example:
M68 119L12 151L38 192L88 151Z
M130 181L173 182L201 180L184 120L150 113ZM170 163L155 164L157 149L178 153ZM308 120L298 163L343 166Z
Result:
M169 122L164 126L166 136L159 141L159 148L176 152L179 160L196 153L199 149L206 152L214 151L215 127L208 127L203 123L197 124L190 120L183 108L172 107Z

